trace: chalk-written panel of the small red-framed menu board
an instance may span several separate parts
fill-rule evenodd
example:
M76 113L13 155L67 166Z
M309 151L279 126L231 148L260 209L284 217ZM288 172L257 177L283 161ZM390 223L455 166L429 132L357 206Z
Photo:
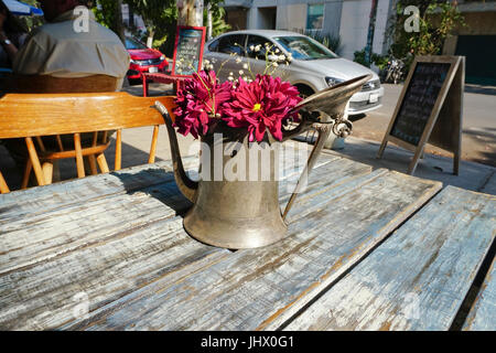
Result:
M180 29L175 56L175 75L192 75L200 71L203 31Z

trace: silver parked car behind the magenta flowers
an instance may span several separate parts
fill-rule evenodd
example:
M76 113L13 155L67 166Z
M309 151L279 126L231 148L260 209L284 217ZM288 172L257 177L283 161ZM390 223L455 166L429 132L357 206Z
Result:
M213 63L218 71L223 62L229 60L231 53L249 61L254 73L261 73L265 68L265 44L276 45L282 54L291 54L292 62L281 65L278 75L295 85L302 96L309 96L321 89L336 85L347 79L371 74L363 89L353 95L349 100L348 114L358 115L381 106L384 87L379 76L371 69L339 57L324 45L313 39L294 32L272 30L235 31L219 35L205 45L204 60ZM260 51L255 51L257 45ZM258 58L258 60L257 60ZM239 63L230 60L224 64L218 76L226 79L229 73L238 73L241 69Z

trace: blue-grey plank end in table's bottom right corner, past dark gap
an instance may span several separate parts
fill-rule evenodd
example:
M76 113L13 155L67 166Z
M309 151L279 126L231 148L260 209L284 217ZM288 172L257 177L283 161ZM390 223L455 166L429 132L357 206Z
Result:
M496 260L493 259L481 291L463 325L464 331L496 331Z

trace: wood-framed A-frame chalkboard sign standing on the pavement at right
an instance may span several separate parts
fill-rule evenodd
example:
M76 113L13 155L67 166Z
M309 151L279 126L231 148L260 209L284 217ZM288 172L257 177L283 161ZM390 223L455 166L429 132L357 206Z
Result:
M453 169L459 174L464 81L463 56L416 57L378 158L388 141L414 151L408 170L412 174L429 142L454 153Z

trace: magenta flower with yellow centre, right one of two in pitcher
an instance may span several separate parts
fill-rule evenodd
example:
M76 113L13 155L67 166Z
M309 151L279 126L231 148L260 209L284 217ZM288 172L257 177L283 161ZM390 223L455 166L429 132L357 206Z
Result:
M230 100L224 104L224 120L233 128L247 128L249 141L260 142L268 129L277 139L282 140L282 124L298 119L298 113L291 113L301 100L298 88L281 78L260 76L251 83L239 77L239 84Z

